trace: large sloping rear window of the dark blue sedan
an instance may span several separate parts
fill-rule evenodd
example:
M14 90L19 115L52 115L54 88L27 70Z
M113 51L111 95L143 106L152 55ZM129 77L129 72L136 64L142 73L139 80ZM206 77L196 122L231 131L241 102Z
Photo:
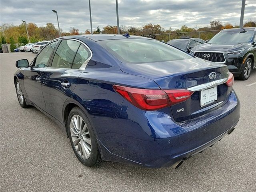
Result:
M104 40L98 43L122 62L149 63L192 58L168 44L150 39Z

